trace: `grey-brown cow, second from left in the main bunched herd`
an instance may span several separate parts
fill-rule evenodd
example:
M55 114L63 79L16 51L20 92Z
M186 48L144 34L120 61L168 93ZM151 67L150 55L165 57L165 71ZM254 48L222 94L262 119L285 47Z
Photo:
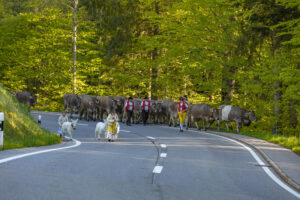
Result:
M80 95L81 104L79 119L82 119L82 115L85 116L85 119L89 121L90 119L96 120L97 108L99 101L96 97L90 95Z

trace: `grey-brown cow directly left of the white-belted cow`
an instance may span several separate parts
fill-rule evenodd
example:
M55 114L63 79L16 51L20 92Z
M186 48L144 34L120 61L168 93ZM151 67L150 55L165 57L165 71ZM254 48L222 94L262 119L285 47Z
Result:
M188 108L188 123L186 129L188 129L191 122L193 121L195 122L195 125L199 130L200 127L198 126L198 121L202 120L203 130L205 131L206 128L209 128L211 126L215 119L218 119L217 109L205 103L190 104ZM209 122L208 127L205 127L205 122Z

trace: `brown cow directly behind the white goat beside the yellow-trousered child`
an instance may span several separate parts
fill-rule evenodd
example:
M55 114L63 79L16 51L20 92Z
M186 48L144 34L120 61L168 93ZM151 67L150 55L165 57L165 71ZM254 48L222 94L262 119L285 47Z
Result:
M107 115L111 112L111 110L116 109L117 107L117 100L115 100L113 97L102 97L97 96L98 100L98 118L100 121L103 121L103 114L106 112Z

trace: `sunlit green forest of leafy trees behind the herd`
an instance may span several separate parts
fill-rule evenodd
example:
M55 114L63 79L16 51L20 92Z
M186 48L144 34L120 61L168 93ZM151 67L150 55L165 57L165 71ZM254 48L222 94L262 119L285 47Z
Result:
M0 0L0 81L38 110L65 93L186 94L300 137L300 1Z

